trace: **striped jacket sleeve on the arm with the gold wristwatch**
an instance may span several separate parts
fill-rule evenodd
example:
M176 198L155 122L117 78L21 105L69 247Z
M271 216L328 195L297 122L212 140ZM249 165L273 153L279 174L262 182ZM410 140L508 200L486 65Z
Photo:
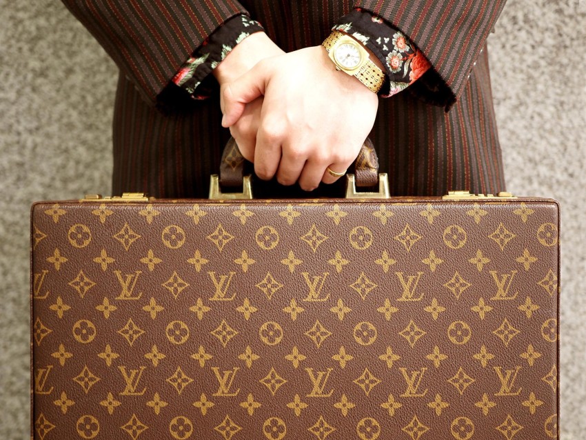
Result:
M410 88L451 106L463 92L478 54L506 0L357 0L401 30L425 54L432 70Z

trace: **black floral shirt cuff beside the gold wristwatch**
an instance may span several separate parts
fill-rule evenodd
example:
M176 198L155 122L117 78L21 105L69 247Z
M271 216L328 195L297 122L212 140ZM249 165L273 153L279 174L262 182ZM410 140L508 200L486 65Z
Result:
M405 90L431 67L430 62L405 34L381 17L361 8L342 17L333 29L361 41L381 60L388 79L378 92L383 98Z

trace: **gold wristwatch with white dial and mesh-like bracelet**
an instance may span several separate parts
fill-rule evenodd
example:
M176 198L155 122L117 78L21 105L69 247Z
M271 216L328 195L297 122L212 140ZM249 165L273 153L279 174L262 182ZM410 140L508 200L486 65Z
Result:
M327 50L328 57L334 61L337 70L358 78L358 81L374 93L381 90L385 73L372 62L361 43L348 34L334 30L321 44Z

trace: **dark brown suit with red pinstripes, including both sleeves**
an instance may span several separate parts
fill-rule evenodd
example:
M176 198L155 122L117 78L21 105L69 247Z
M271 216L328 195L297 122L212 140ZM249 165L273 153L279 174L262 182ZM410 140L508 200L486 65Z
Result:
M285 51L316 46L363 8L403 31L433 70L381 99L371 133L395 195L505 190L486 39L505 0L63 0L120 68L113 192L205 197L230 133L219 99L156 107L221 23L246 13ZM439 104L432 105L431 103ZM449 108L446 112L445 109Z

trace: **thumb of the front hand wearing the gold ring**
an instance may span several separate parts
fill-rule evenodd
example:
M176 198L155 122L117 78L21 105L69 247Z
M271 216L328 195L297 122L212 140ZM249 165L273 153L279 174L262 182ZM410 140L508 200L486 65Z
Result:
M233 126L242 116L246 104L265 93L266 76L264 70L255 66L224 88L222 92L224 112L222 126L224 128Z

